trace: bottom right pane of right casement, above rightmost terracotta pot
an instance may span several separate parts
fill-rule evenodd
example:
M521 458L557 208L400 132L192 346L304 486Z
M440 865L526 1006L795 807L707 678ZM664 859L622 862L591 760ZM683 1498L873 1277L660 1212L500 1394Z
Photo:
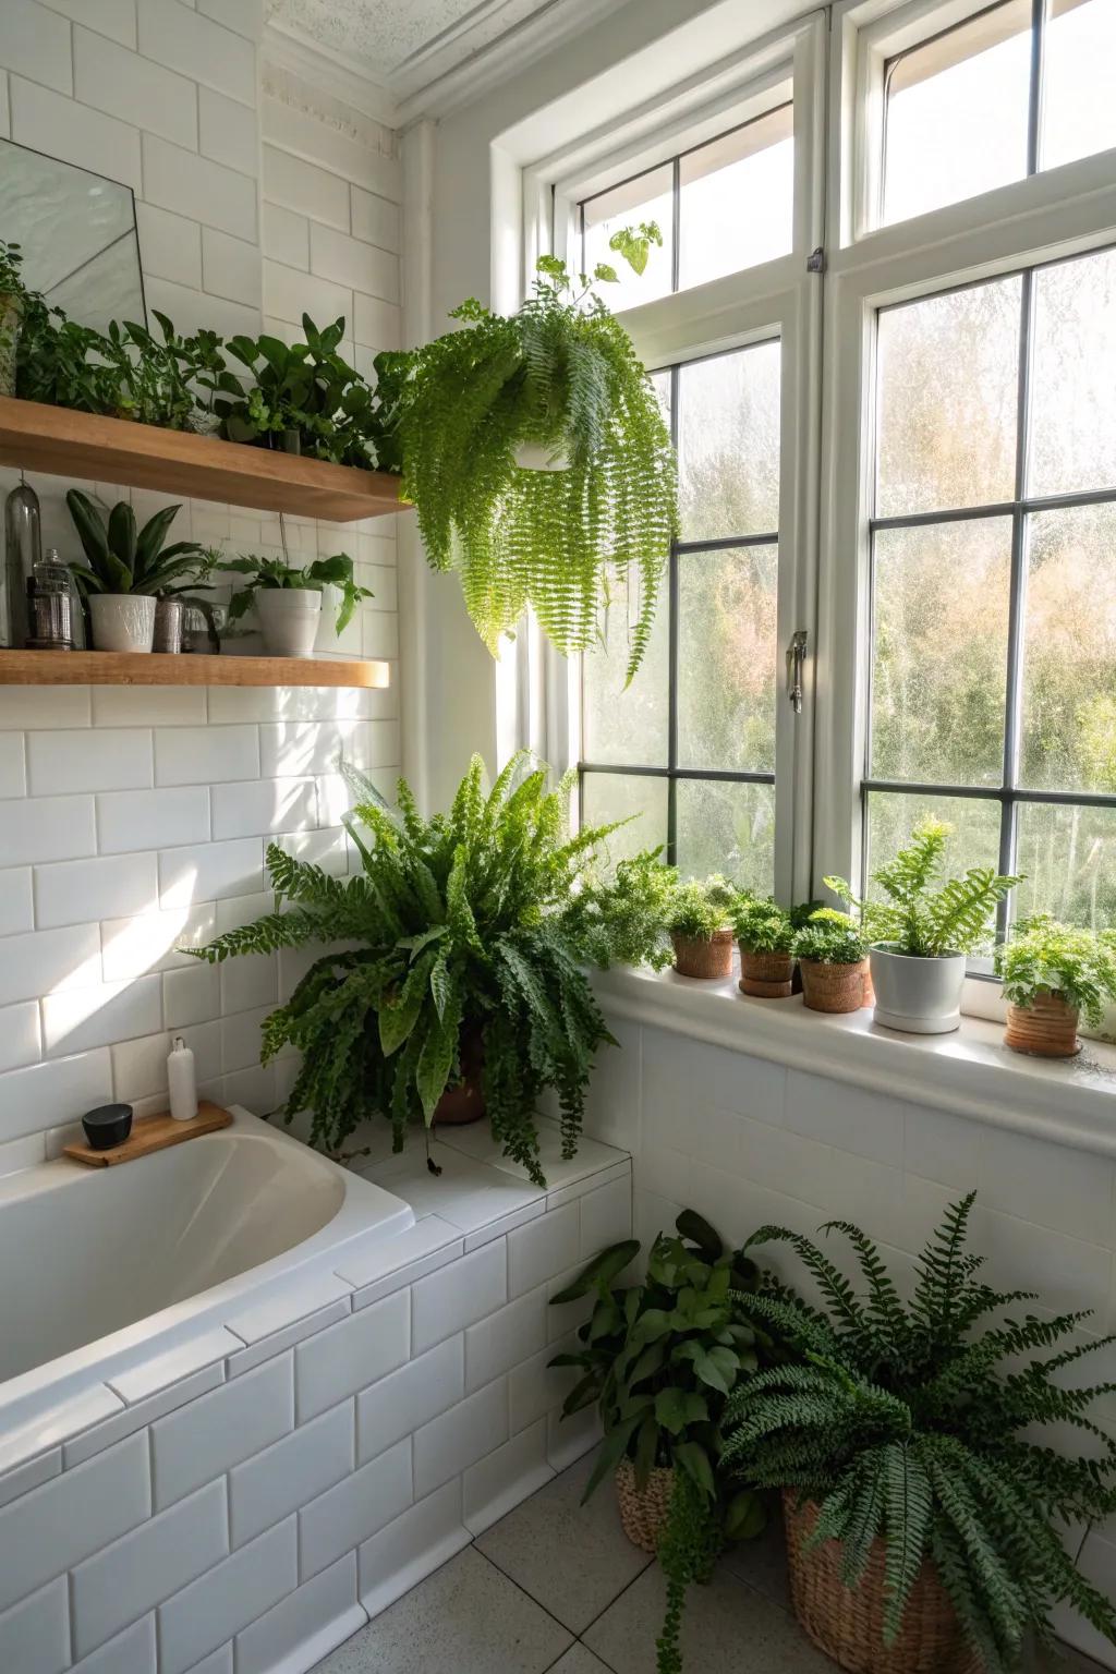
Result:
M1116 922L1116 809L1019 804L1016 917L1052 912L1066 924Z

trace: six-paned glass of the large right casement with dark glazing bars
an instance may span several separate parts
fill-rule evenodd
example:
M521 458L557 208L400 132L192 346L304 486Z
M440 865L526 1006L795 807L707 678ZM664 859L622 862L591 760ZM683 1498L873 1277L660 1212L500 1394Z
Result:
M935 812L1116 922L1113 390L1116 249L878 313L865 869Z

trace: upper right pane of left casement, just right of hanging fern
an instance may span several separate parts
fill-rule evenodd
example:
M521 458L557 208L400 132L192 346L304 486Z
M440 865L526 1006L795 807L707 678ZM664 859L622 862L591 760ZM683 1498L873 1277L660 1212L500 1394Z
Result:
M683 541L775 534L780 345L694 360L678 375Z

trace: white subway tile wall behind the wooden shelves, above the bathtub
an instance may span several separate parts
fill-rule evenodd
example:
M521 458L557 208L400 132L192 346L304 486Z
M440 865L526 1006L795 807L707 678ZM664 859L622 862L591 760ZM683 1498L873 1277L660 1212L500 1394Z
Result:
M147 306L181 330L345 313L366 365L400 330L397 136L261 62L261 25L263 0L5 0L0 134L134 187ZM0 499L17 480L0 470ZM28 482L45 542L77 556L70 482ZM172 502L80 485L141 521ZM281 551L274 514L207 501L172 537ZM350 552L375 591L336 655L395 658L395 519L288 519L288 542ZM209 1096L276 1100L258 1019L278 963L218 978L174 949L266 911L274 835L348 869L341 753L392 787L395 670L387 691L0 688L0 1143L107 1096L156 1108L177 1028Z

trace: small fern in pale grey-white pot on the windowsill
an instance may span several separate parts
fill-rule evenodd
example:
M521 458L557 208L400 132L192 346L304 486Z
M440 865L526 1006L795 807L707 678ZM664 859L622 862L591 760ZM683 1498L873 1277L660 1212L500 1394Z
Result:
M952 825L925 820L888 865L872 874L883 901L858 901L843 877L825 886L852 906L870 937L877 1023L910 1035L960 1026L965 956L987 946L996 904L1021 882L991 865L942 881Z

